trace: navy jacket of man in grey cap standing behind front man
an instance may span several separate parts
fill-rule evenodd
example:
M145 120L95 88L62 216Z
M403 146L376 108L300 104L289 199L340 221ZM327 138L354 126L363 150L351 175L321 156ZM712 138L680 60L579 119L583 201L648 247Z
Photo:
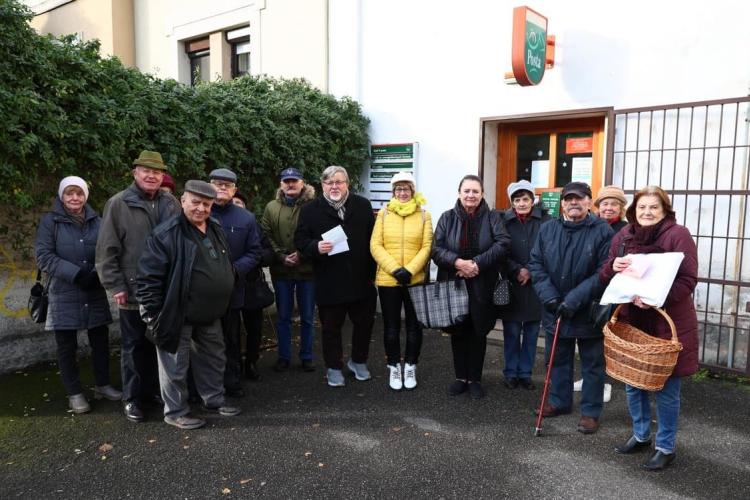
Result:
M232 202L224 205L214 203L211 207L211 216L224 228L229 242L232 267L237 273L229 307L242 309L245 276L260 264L263 257L263 249L260 246L260 228L253 214Z

